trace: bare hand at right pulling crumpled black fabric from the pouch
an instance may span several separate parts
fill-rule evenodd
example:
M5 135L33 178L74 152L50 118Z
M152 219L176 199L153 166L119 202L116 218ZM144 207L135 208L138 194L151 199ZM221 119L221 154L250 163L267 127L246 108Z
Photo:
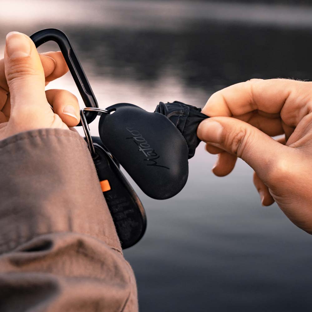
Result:
M214 93L198 126L212 169L225 176L242 158L254 170L264 206L274 201L298 227L312 234L312 82L252 79ZM234 118L231 118L234 117ZM276 141L271 136L285 134ZM285 145L284 145L285 144Z

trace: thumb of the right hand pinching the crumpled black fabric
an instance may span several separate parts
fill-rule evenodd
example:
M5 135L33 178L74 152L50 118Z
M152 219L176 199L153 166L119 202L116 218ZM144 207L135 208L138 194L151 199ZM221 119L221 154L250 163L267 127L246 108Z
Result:
M231 154L242 158L266 180L277 156L285 149L270 136L252 125L231 117L213 117L202 121L197 136Z

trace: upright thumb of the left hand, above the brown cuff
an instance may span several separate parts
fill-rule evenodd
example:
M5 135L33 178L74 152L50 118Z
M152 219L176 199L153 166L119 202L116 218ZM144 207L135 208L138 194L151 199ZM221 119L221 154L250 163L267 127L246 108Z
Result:
M20 32L7 34L4 68L11 96L11 118L52 112L46 100L40 57L28 36Z

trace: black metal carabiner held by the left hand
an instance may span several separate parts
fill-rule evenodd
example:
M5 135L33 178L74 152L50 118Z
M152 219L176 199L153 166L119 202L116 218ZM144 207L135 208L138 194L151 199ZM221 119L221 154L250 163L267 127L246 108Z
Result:
M35 43L36 47L41 46L41 44L47 41L55 41L61 49L61 52L71 72L71 75L74 78L85 106L99 107L95 95L91 89L90 83L85 76L85 72L83 71L80 61L76 55L76 52L64 32L58 29L48 28L40 30L39 32L35 32L30 36L30 38ZM96 115L97 114L93 112L85 113L85 118L88 124L95 119ZM81 122L78 124L78 126L81 126Z

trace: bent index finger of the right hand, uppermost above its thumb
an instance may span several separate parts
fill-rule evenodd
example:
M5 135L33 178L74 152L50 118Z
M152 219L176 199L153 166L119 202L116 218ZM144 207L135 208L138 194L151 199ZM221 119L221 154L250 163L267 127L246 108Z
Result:
M290 127L311 111L311 87L307 81L252 79L214 93L202 109L208 116L239 116L254 110L280 114Z

